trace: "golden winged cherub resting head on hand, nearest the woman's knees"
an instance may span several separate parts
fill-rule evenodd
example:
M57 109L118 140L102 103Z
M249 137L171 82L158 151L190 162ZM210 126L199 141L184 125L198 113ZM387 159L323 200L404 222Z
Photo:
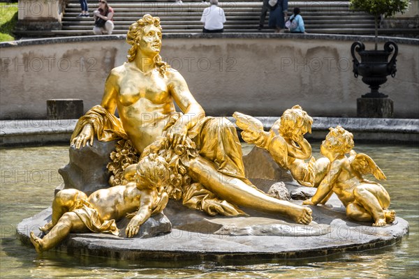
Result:
M300 105L286 110L269 132L252 116L235 112L236 125L242 129L242 138L249 144L269 151L275 162L290 170L294 179L303 186L313 186L316 160L311 157L311 146L304 134L311 133L313 119ZM304 160L311 157L309 163Z

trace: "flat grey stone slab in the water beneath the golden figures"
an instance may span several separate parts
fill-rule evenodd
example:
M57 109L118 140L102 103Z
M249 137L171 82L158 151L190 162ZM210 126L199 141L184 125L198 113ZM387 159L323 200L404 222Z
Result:
M300 201L292 202L301 204ZM335 196L331 197L328 206L310 208L313 210L313 222L297 225L280 220L279 216L253 216L253 213L252 217L210 217L200 211L186 209L180 202L170 201L164 211L172 223L170 233L142 239L110 234L70 234L55 250L71 255L115 259L223 263L230 259L241 262L295 259L380 248L399 241L409 232L409 223L398 217L394 223L384 227L348 220L344 207ZM50 209L46 209L17 225L17 236L30 246L28 249L34 249L29 241L29 232L34 230L40 234L37 228L47 222L50 214Z

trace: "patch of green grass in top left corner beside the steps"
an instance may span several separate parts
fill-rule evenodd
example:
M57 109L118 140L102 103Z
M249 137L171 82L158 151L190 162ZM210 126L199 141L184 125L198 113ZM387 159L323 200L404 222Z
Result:
M17 3L0 3L0 42L15 40L13 30L17 22Z

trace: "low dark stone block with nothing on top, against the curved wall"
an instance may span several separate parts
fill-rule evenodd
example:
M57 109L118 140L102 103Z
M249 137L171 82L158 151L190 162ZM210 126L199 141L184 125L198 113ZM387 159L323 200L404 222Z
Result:
M83 100L47 100L47 119L79 119L83 115Z

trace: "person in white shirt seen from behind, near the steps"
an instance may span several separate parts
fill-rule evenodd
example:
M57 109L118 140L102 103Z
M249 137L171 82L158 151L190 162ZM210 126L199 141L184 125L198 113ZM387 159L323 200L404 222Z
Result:
M201 22L204 24L203 33L221 33L224 31L223 23L226 22L224 10L218 5L218 0L210 0L211 6L205 8Z

